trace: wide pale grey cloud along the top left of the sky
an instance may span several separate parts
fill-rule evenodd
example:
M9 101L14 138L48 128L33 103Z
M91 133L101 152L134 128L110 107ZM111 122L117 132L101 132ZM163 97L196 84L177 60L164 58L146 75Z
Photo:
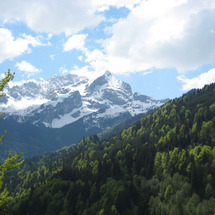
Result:
M140 0L106 1L106 0L7 0L0 1L0 19L7 23L22 21L37 32L53 34L78 33L97 26L105 17L99 13L110 6L129 7Z

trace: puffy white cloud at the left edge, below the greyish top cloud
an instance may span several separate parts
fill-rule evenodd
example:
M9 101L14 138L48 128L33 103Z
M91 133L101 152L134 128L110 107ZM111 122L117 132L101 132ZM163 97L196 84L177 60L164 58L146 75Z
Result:
M23 34L15 39L12 32L5 28L0 28L0 63L7 59L13 59L25 52L30 52L29 46L43 45L38 38Z

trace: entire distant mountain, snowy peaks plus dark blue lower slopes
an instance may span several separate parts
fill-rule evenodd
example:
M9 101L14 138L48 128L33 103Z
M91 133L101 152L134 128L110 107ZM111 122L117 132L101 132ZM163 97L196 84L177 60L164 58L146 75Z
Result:
M0 128L8 131L6 144L0 145L1 159L11 149L26 158L76 144L132 117L135 122L135 116L165 103L133 94L129 84L108 71L95 80L68 74L9 84L7 96L0 98Z

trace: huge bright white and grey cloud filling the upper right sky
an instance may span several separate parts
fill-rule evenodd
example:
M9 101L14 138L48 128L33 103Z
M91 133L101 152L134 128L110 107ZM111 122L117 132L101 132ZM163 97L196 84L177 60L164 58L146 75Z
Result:
M131 9L112 26L103 41L113 73L149 68L180 71L213 64L215 2L212 0L150 0Z

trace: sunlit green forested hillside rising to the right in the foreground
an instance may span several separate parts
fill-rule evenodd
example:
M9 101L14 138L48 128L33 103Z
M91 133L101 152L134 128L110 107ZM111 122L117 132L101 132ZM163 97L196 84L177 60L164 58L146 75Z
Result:
M43 161L26 161L5 178L7 213L214 214L215 84Z

